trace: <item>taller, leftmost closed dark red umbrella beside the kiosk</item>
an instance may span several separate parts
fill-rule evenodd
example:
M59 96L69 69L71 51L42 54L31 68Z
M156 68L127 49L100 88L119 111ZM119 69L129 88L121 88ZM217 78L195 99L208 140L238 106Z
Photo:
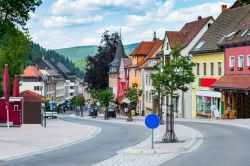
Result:
M5 105L7 111L7 126L10 127L9 124L9 69L8 65L4 66L4 76L3 76L3 88L4 88L4 97L5 97Z

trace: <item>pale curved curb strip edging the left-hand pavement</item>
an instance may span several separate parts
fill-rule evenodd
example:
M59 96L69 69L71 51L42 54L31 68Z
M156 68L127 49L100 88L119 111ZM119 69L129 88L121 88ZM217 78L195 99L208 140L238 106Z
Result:
M42 153L45 153L45 152L50 152L50 151L57 150L57 149L60 149L60 148L65 148L65 147L68 147L68 146L71 146L71 145L75 145L75 144L84 142L84 141L86 141L88 139L91 139L91 138L95 137L96 135L98 135L101 131L102 131L101 128L96 127L95 131L93 131L89 135L81 137L81 138L77 138L77 139L72 140L72 141L68 141L68 142L66 142L64 144L50 146L50 147L42 148L40 150L34 150L34 151L31 151L31 152L15 154L15 155L11 155L11 156L8 156L8 157L2 157L2 158L0 157L0 160L1 161L16 160L16 159L20 159L20 158L25 158L25 157L30 157L30 156L42 154Z

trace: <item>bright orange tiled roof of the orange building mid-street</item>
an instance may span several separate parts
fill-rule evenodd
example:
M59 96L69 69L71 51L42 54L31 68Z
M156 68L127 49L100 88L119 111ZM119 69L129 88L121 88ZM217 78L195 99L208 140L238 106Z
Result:
M152 42L141 42L141 44L135 49L132 53L132 56L142 55L145 56L143 60L141 60L136 65L131 65L131 68L138 68L141 67L147 60L150 58L155 58L157 51L163 45L163 40L157 40Z

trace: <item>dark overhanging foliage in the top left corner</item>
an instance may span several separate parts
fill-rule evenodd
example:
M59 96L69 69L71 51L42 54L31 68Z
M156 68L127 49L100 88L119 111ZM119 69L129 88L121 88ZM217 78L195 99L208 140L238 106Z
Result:
M41 0L0 0L0 27L5 23L24 27L30 12L34 12L41 4Z

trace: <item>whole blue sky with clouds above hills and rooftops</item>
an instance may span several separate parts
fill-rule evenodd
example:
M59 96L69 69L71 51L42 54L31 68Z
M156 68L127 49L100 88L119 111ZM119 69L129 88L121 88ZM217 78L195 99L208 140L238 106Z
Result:
M32 40L47 49L99 45L105 30L120 31L124 44L178 31L187 22L221 13L235 0L43 0L28 21Z

